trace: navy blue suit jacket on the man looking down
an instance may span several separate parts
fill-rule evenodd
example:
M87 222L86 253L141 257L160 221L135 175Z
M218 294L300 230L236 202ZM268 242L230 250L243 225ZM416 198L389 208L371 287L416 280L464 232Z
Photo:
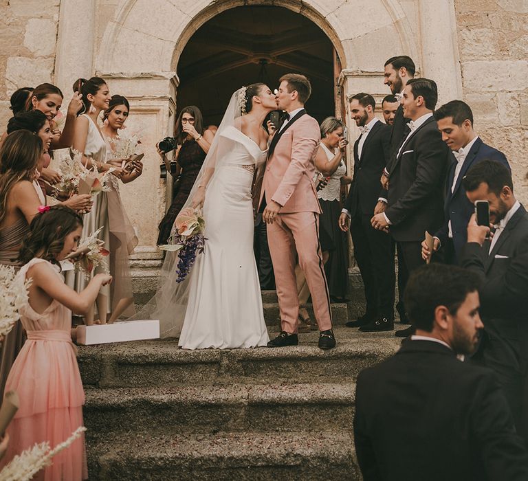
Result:
M467 223L470 221L471 214L474 212L474 205L469 199L467 199L465 189L462 186L463 177L471 166L474 166L481 160L497 160L501 164L507 166L509 170L511 169L509 168L508 161L502 152L484 144L480 138L477 138L472 145L470 152L467 153L467 156L465 157L459 177L456 179L454 191L451 192L454 170L456 168L456 159L452 153L450 157L452 162L448 172L448 180L445 183L445 201L443 205L445 221L434 236L438 237L442 247L445 247L449 238L448 223L451 221L454 255L456 257L456 260L454 260L453 263L458 264L462 248L467 242Z

